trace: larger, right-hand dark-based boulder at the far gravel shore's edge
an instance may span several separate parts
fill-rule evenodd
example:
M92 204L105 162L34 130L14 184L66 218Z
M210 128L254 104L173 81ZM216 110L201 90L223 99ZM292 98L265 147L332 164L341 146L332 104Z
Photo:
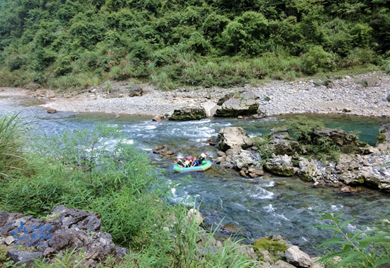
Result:
M221 107L217 108L214 116L216 117L237 117L257 113L259 109L259 97L255 92L248 91L233 96L225 101Z

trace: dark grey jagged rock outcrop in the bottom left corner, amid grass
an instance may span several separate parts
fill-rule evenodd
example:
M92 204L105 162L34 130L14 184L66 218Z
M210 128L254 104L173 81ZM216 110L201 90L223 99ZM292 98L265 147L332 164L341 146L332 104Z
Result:
M8 256L27 267L35 258L50 259L66 250L84 250L83 267L96 267L108 256L119 258L128 252L113 244L109 233L101 232L99 214L64 206L57 206L48 220L1 211L0 235L0 242L13 238L6 243ZM18 245L23 245L23 250Z

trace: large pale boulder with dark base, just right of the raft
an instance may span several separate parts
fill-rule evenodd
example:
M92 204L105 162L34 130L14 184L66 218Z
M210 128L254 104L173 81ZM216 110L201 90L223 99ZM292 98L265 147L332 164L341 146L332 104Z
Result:
M246 149L253 145L253 140L241 127L222 128L218 133L218 147L226 152L233 147Z

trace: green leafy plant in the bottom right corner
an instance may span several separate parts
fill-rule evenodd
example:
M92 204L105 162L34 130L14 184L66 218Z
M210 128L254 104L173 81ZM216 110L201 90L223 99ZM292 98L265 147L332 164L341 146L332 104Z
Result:
M334 238L326 240L318 245L336 245L336 249L329 255L318 259L325 262L335 257L341 257L338 267L379 267L390 262L390 218L382 216L378 224L372 225L374 230L366 232L357 231L348 233L345 228L352 223L350 220L342 220L342 213L323 213L320 220L330 220L329 225L313 225L311 228L323 228L334 231Z

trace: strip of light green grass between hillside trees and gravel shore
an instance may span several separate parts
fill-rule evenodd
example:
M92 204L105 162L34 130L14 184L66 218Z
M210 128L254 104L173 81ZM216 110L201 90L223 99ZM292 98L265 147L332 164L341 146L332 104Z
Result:
M130 80L137 83L150 82L157 89L169 90L179 86L240 86L252 84L253 86L264 84L272 80L294 81L303 77L328 78L341 74L361 74L373 71L390 71L390 65L374 65L364 60L364 51L352 60L355 64L350 67L338 68L337 61L344 61L333 56L321 59L320 56L291 57L284 53L267 53L257 58L221 57L221 58L176 58L177 62L158 67L156 65L118 65L109 72L89 72L84 66L83 60L72 62L72 65L80 65L79 72L70 72L63 76L55 76L52 72L38 74L29 69L18 69L11 72L7 68L0 69L1 86L25 86L30 82L36 82L52 89L81 91L91 86L99 86L108 80ZM102 57L104 55L101 55ZM323 66L321 60L329 63L329 68ZM320 63L318 63L320 62ZM340 63L340 62L339 62ZM342 63L348 65L347 62ZM325 63L324 63L325 65ZM328 65L328 64L327 64ZM131 69L131 72L128 69ZM83 69L83 71L81 71ZM311 70L311 71L308 71Z

